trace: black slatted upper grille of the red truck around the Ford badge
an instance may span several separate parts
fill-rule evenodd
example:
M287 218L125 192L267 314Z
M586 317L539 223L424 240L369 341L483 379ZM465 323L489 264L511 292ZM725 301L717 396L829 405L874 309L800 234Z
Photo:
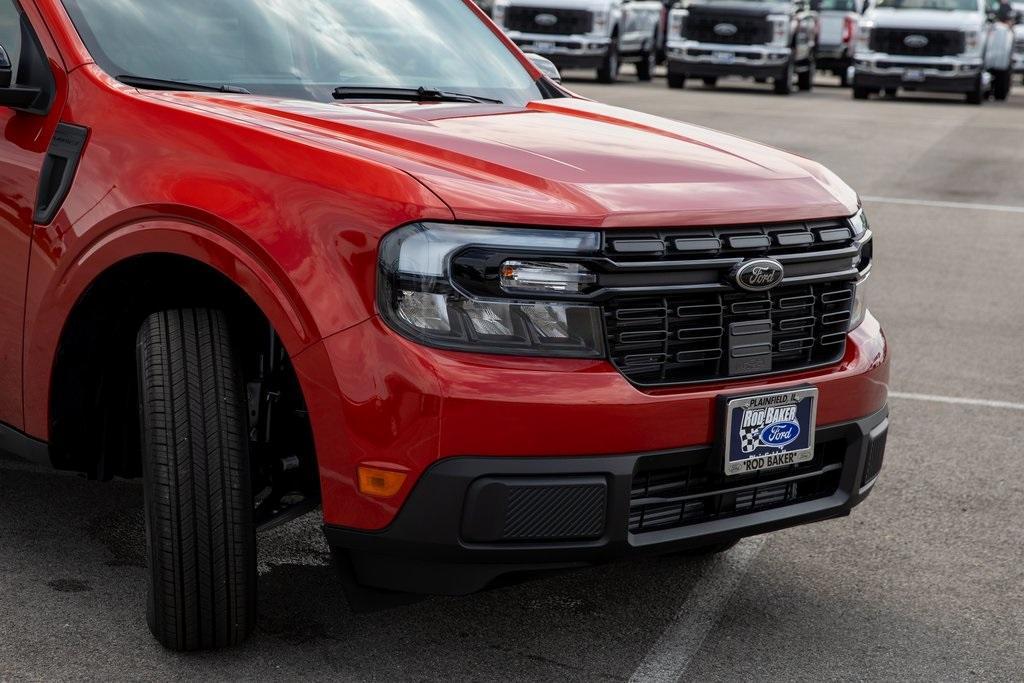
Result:
M846 351L855 297L857 274L849 255L854 244L846 221L609 238L609 257L627 266L642 259L721 267L770 256L783 262L787 283L802 280L800 273L805 271L840 273L835 280L825 274L824 282L783 284L761 293L719 285L711 288L714 291L692 294L612 297L604 306L611 361L642 386L838 362ZM861 255L869 259L869 249ZM647 276L655 282L655 275Z

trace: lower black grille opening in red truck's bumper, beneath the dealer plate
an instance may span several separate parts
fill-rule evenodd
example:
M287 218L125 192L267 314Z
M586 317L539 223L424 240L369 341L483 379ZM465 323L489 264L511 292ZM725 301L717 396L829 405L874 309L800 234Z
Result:
M637 463L630 496L630 531L642 533L827 498L839 490L845 436L815 444L814 459L773 472L726 477L722 459L708 451L679 458L651 456Z

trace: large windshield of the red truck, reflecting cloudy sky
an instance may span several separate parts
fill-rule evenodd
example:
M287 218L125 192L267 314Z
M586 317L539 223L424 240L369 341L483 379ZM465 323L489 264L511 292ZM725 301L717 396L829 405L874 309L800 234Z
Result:
M461 0L63 0L110 75L331 101L347 87L524 103L529 73Z

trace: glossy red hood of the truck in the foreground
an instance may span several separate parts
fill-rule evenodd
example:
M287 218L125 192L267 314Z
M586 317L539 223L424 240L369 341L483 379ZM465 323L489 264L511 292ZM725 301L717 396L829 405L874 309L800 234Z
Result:
M833 218L857 209L853 190L813 162L583 99L520 109L154 96L371 156L419 179L459 220L649 227Z

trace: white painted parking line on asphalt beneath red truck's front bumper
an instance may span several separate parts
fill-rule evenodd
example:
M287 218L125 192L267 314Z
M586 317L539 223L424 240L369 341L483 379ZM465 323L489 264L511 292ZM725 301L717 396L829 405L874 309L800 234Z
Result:
M672 623L633 673L630 683L674 683L686 674L693 655L718 624L729 598L764 545L763 536L743 539L729 552L708 562Z

